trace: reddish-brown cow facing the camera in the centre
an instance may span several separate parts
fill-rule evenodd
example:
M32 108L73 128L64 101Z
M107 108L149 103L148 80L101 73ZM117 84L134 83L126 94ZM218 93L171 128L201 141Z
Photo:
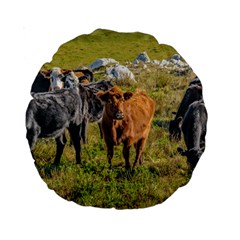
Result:
M141 90L123 93L117 86L105 92L100 91L97 96L104 103L102 131L110 167L114 146L120 143L123 143L126 169L130 169L129 151L132 144L136 150L133 168L137 162L142 164L143 149L155 112L155 102Z

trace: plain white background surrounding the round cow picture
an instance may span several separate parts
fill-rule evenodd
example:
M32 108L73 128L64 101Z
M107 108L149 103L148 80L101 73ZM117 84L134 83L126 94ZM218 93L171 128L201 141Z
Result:
M240 239L238 1L30 1L1 5L0 238ZM191 181L163 204L104 210L47 188L30 156L31 84L59 46L97 28L140 31L173 46L204 86L206 151Z

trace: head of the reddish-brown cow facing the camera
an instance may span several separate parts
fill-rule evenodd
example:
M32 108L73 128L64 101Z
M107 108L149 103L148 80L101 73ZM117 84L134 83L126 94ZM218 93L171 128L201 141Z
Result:
M117 86L112 87L108 91L99 91L97 93L97 97L100 98L105 105L107 115L116 120L124 118L123 102L131 98L132 95L133 93L131 92L123 93Z

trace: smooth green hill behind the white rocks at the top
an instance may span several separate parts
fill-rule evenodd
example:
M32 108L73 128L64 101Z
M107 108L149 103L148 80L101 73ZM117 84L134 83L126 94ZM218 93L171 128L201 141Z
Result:
M132 62L143 51L146 51L152 60L169 59L177 53L173 47L159 44L149 34L97 29L91 34L80 35L61 45L52 61L45 63L43 68L88 66L97 58L114 58L120 63Z

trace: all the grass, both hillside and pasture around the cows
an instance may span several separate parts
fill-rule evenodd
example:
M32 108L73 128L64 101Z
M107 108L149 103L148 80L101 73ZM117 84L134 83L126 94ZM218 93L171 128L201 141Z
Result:
M108 30L96 30L63 44L50 63L43 68L59 66L77 68L87 66L97 58L111 57L120 63L132 62L140 52L146 51L150 59L169 59L176 51L167 45L159 45L156 39L142 33L119 34ZM144 152L142 166L133 173L125 170L122 146L115 147L113 169L109 169L104 141L100 139L97 124L88 128L88 143L82 145L82 165L76 165L73 147L67 144L59 167L52 165L55 156L53 139L39 139L34 155L40 176L50 189L69 201L84 206L104 208L144 208L162 203L191 178L186 159L177 153L180 143L170 142L166 127L155 121L172 119L190 80L189 72L178 76L168 70L148 64L147 69L129 65L136 83L121 81L124 90L144 89L156 101L156 112ZM94 73L96 79L103 74ZM134 159L131 149L131 163Z

